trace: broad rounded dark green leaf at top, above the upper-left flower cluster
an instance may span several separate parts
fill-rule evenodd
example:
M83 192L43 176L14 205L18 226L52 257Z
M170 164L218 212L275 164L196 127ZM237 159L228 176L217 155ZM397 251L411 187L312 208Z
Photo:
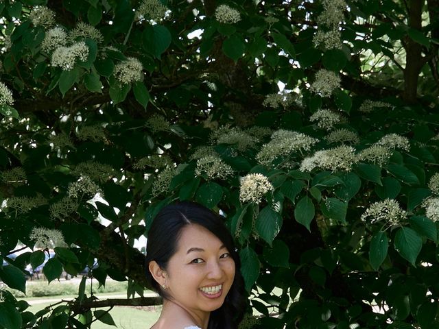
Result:
M143 48L152 53L156 58L160 58L161 54L171 45L171 32L163 25L148 25L142 34Z

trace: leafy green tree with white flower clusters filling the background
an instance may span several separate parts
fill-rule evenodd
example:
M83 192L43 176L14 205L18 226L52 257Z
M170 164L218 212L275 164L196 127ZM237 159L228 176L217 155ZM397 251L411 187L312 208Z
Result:
M134 239L222 210L252 328L439 328L438 1L0 3L0 278L86 265L147 287ZM110 221L104 225L98 221ZM30 247L12 259L17 243ZM84 291L2 328L88 328ZM250 311L261 313L252 319ZM309 316L312 315L312 316Z

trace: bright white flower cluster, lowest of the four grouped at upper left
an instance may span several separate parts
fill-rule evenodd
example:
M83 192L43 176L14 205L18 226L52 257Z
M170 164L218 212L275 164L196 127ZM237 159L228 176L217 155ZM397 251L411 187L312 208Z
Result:
M88 58L88 47L84 41L76 42L70 47L58 47L52 53L52 66L59 66L64 71L70 71L75 67L76 60L85 62Z

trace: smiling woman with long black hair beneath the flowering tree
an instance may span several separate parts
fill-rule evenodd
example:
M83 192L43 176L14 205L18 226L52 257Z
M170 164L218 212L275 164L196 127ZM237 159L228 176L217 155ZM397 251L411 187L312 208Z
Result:
M199 204L163 208L148 232L147 278L163 297L151 329L235 329L244 285L233 238L219 215Z

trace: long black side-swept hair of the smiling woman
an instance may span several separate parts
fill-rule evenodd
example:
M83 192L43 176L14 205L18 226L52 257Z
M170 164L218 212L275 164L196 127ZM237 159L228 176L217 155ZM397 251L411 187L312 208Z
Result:
M235 261L235 279L226 295L224 303L211 312L208 329L236 329L244 315L246 306L244 297L244 280L241 275L241 261L235 249L233 237L226 228L224 220L215 212L193 202L180 202L165 206L152 221L146 243L146 276L152 289L163 298L167 294L148 270L148 265L155 260L162 269L167 269L169 258L176 253L178 239L182 228L189 224L198 224L224 243L230 256Z

